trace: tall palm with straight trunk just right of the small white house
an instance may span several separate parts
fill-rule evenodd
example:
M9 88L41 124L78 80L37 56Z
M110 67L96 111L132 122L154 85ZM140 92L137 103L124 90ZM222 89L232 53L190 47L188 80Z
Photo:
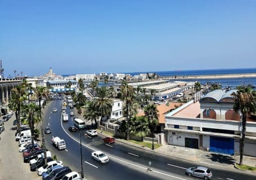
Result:
M131 106L134 101L133 87L129 86L127 82L123 81L121 86L121 99L125 102L125 117L127 119L127 141L129 141L129 119L131 119Z

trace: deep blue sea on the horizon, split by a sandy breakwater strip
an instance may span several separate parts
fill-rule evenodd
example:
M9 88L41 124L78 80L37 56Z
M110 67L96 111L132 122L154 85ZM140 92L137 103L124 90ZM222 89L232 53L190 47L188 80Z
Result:
M160 77L175 77L175 76L187 76L187 75L218 75L218 74L248 74L256 73L256 68L247 69L207 69L207 70L173 70L173 71L149 71L149 72L130 72L124 74L131 74L132 76L142 73L156 73ZM67 75L64 75L67 76ZM218 83L222 88L230 87L236 88L237 86L247 86L248 84L256 87L256 78L214 78L214 79L186 79L182 80L186 82L198 81L201 84ZM89 83L89 82L88 82ZM112 86L114 82L109 82L107 85ZM103 82L99 83L99 86L104 86ZM256 90L256 88L254 88Z

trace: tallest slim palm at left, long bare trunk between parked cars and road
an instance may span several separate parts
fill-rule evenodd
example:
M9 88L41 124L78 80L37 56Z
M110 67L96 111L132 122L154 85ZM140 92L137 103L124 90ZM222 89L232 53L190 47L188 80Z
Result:
M40 119L40 122L41 122L42 147L45 150L44 151L44 161L45 161L45 163L47 163L47 159L46 159L46 142L44 140L43 123L42 123L41 101L43 100L43 98L45 100L48 100L49 91L48 91L48 89L46 87L43 87L43 86L36 86L33 90L34 90L35 95L37 96L38 105L39 105L39 119Z

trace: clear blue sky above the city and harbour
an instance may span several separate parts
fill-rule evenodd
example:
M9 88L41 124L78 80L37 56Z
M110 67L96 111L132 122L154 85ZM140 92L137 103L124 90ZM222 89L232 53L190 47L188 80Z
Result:
M256 67L254 0L1 0L0 29L5 76Z

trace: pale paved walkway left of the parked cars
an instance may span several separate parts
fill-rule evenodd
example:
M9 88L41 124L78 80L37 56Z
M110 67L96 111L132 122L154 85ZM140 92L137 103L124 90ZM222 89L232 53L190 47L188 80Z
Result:
M37 176L37 172L30 172L28 163L23 163L18 143L15 141L16 130L11 129L14 119L15 115L12 115L12 118L5 122L5 131L0 135L0 180L42 179Z

